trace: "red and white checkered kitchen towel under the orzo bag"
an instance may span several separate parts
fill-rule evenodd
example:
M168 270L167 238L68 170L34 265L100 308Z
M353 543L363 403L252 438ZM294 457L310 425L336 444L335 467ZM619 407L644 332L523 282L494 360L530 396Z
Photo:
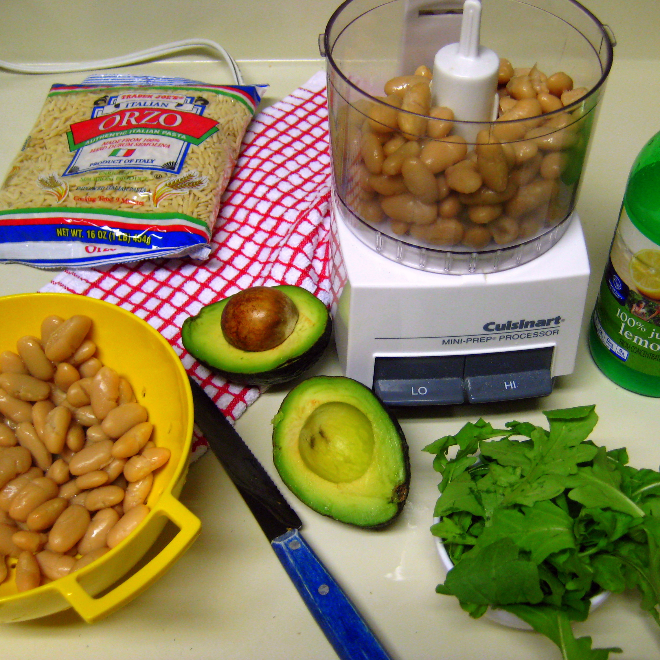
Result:
M170 342L187 372L230 420L258 388L213 376L183 348L183 321L248 286L296 284L331 302L330 156L325 74L257 114L222 200L208 261L140 261L64 271L42 288L112 302L145 319ZM203 453L201 436L193 456Z

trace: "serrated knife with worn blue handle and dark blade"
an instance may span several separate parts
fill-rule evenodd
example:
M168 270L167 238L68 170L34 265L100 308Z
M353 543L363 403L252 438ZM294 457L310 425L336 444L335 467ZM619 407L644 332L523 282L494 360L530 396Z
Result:
M191 378L195 423L341 660L391 660L300 534L302 521L213 400Z

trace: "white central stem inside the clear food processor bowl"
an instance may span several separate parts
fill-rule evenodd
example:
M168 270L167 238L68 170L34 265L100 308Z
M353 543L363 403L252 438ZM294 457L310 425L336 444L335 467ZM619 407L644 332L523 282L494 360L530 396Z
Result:
M457 121L493 121L500 58L479 44L481 3L465 0L461 40L436 53L431 91L435 106L453 110ZM479 125L454 124L454 132L474 143Z

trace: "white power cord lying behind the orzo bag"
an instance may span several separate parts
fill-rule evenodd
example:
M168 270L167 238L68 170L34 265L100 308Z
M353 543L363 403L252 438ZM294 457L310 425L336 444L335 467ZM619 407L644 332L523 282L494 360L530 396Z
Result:
M238 64L234 58L224 49L220 44L217 44L210 39L182 39L181 41L171 42L170 44L162 44L162 46L154 46L147 48L137 53L129 55L121 55L121 57L110 57L110 59L98 59L96 61L87 62L60 62L56 64L16 64L13 62L5 62L0 59L0 69L5 71L13 71L14 73L72 73L73 71L95 71L96 69L112 69L114 67L123 67L127 64L137 64L149 59L160 59L167 55L173 55L183 50L191 48L199 48L203 46L224 59L232 70L234 82L236 84L243 84L243 75L238 68Z

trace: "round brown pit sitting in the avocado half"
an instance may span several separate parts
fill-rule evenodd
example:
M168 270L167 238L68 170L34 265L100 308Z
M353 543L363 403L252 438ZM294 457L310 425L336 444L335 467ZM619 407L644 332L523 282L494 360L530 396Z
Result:
M253 286L232 296L220 328L233 347L260 352L281 345L297 322L298 308L289 296L270 286Z

